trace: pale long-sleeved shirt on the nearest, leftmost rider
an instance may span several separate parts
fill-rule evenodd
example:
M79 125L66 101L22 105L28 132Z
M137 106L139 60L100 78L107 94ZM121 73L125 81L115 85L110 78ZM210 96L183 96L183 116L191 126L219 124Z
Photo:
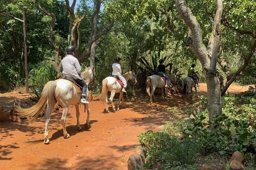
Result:
M81 66L79 64L79 61L76 57L73 55L67 55L65 58L61 61L62 64L62 74L63 76L71 76L75 79L82 80L83 78L79 75L81 73Z

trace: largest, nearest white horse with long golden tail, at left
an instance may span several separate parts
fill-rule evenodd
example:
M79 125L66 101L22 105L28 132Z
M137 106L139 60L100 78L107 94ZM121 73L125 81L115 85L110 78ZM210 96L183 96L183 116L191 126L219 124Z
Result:
M90 84L94 85L95 84L95 72L94 72L94 66L93 68L91 67L86 67L85 71L81 73L81 76L83 77L84 81L88 85L89 82ZM88 92L88 90L87 90ZM87 94L88 96L88 94ZM51 119L51 113L53 110L54 105L58 102L62 108L63 108L63 113L61 117L61 123L63 127L63 134L65 138L69 138L70 135L67 133L66 130L66 120L67 120L67 114L68 114L68 109L70 105L75 105L76 108L76 118L77 118L77 129L81 130L81 126L79 124L79 100L81 97L81 93L77 93L75 87L69 80L65 79L58 79L55 81L49 81L46 83L46 85L43 88L41 97L37 104L31 108L28 109L22 109L19 107L16 107L15 109L18 112L18 115L20 117L27 117L30 118L31 120L36 119L44 110L46 111L45 113L45 133L44 133L44 143L45 144L50 144L50 140L48 138L48 125ZM85 108L87 110L87 119L86 123L84 125L85 128L89 128L89 116L90 116L90 108L88 104L85 105Z

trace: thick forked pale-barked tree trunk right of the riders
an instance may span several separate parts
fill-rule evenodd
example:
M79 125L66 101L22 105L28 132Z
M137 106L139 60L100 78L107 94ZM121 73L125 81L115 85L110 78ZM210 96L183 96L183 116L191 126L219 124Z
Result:
M210 49L212 53L206 51L203 40L202 40L202 31L199 23L192 14L191 10L187 7L185 0L176 0L175 8L177 9L179 15L188 25L191 36L188 36L187 42L189 47L198 57L201 62L202 68L204 70L204 75L206 78L207 84L207 95L208 95L208 111L209 111L209 120L211 121L213 115L221 115L221 98L220 98L220 83L216 73L216 63L217 63L217 54L219 49L219 28L220 28L220 19L222 14L222 1L216 0L217 10L214 19L214 28L211 38L208 43L207 49ZM190 32L189 31L189 32ZM210 56L209 56L210 55ZM211 58L211 59L210 59Z

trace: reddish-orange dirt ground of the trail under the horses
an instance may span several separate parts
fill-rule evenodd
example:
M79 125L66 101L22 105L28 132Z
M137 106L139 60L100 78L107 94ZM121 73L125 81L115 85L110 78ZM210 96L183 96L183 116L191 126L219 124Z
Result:
M199 85L200 98L207 94L207 87L205 83ZM248 87L231 85L229 93L244 92ZM21 93L25 93L24 90ZM25 101L28 97L16 92L0 93L0 106L7 112L12 109L14 99ZM83 127L87 115L84 106L79 107L81 131L77 130L75 107L71 106L66 122L71 138L67 139L63 136L60 108L51 116L48 145L43 142L43 118L21 123L0 122L1 170L127 170L128 158L136 152L140 133L157 131L170 121L169 116L175 117L166 108L183 111L198 100L184 100L181 95L169 95L169 102L159 99L160 95L156 98L158 102L150 104L149 96L138 92L132 98L125 98L126 108L120 105L119 111L112 112L108 102L109 113L102 102L90 101L89 129ZM117 100L115 98L115 105Z

